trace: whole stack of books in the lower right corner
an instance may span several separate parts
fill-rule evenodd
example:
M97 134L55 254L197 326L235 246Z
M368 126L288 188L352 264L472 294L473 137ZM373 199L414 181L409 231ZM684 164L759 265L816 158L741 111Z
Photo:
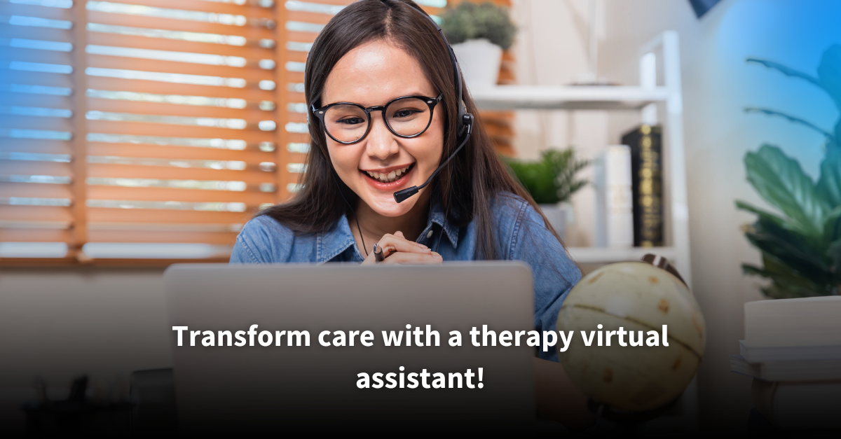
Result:
M744 305L730 370L754 377L754 405L784 430L841 428L841 296Z

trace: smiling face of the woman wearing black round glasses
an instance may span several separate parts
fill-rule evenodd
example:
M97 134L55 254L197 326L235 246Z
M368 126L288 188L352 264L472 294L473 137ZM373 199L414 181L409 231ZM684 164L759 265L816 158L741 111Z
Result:
M436 98L438 92L413 56L379 40L347 52L336 63L325 82L321 106L349 102L367 108L415 95ZM400 204L394 201L394 192L420 186L440 164L443 118L439 103L426 132L404 139L389 131L382 112L373 111L371 130L362 141L342 145L325 135L330 160L341 180L375 212L389 217L406 214L429 186Z

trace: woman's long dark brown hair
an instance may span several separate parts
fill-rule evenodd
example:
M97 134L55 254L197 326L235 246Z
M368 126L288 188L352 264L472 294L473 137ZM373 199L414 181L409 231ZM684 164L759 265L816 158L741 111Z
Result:
M452 63L441 34L430 20L421 14L420 7L411 0L362 0L337 13L309 50L304 72L307 108L310 108L310 105L320 108L321 93L327 76L342 56L370 41L389 41L415 56L426 78L444 97L442 103L446 126L442 159L450 156L457 147L456 133L452 127L457 126L458 117L458 112L454 110L458 108L458 97ZM464 145L463 151L459 152L433 180L432 199L433 203L437 200L442 205L449 205L447 220L453 225L466 225L471 220L476 221L478 236L474 257L496 259L499 252L495 241L494 217L490 211L492 198L500 193L512 193L526 199L538 213L542 216L543 214L532 197L507 172L505 164L500 161L488 133L484 130L476 105L467 93L467 87L463 86L463 90L463 100L468 113L475 116L473 134L467 145ZM277 219L299 234L311 234L334 227L341 215L348 213L342 195L352 205L356 205L359 200L357 194L335 176L336 171L327 152L325 133L318 119L315 115L309 115L308 120L312 143L307 156L307 172L301 181L303 188L287 203L278 204L260 213ZM561 241L545 216L543 220L558 241ZM563 241L561 244L563 245Z

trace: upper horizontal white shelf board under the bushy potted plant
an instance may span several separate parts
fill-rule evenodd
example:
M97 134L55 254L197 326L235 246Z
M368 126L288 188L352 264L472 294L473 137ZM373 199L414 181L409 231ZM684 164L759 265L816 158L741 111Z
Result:
M666 87L496 86L470 90L482 109L626 109L637 110L669 98Z

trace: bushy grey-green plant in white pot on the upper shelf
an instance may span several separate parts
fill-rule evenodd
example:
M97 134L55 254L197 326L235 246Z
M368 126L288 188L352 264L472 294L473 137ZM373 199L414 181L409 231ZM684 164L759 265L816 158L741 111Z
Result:
M441 15L468 87L493 87L500 76L502 50L514 40L516 26L507 8L492 3L459 3Z

